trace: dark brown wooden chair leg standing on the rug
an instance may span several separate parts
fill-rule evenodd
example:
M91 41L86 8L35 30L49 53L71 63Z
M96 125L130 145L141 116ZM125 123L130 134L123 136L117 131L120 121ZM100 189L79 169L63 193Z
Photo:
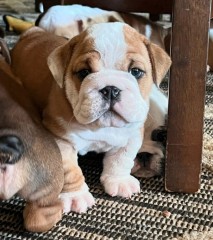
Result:
M165 188L194 193L200 184L211 0L173 2Z

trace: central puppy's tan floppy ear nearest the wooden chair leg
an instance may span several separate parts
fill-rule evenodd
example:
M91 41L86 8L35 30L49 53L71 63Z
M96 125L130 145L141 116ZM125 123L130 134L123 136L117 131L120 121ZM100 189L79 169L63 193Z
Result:
M153 81L159 86L163 77L166 75L171 66L171 58L158 45L151 43L147 39L144 40L144 43L149 53L149 58L152 65Z

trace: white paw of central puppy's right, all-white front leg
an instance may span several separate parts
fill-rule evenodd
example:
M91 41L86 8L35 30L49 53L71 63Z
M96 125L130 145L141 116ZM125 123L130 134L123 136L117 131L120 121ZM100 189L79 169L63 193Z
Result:
M117 177L110 175L101 176L101 183L106 193L114 196L130 198L134 193L140 192L140 183L133 176Z

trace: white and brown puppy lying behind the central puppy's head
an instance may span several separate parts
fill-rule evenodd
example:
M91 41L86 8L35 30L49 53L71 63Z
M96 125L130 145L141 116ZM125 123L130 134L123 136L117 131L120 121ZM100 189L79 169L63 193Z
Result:
M165 48L164 40L170 32L170 29L141 15L106 11L80 4L52 6L38 17L36 25L58 36L72 38L89 26L104 22L127 23L162 48Z

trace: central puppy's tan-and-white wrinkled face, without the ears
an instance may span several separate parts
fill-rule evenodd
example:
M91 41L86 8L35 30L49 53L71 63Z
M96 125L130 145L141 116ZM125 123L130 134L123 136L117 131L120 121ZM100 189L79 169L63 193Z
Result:
M123 23L95 24L71 40L63 85L79 123L144 123L153 84L146 41Z

